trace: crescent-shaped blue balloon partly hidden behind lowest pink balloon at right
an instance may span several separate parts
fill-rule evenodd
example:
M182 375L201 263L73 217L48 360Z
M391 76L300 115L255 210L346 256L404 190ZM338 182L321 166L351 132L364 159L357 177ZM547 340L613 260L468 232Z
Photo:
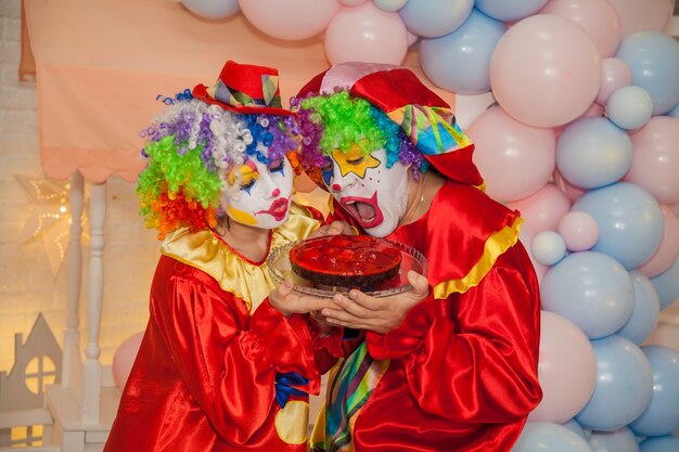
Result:
M591 343L597 357L597 383L589 402L575 418L592 430L617 430L649 406L653 391L651 364L639 346L617 334Z

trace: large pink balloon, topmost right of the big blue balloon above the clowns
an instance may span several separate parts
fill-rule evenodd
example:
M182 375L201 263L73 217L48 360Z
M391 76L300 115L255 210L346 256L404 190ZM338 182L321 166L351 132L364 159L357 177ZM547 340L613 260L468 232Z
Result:
M580 116L601 86L601 56L587 31L552 14L526 17L504 33L490 59L490 88L504 111L533 127Z

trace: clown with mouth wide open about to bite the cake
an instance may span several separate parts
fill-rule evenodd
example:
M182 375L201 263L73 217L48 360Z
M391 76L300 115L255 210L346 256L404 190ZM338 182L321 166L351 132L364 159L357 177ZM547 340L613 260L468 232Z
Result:
M406 68L338 64L292 105L302 165L332 215L428 261L410 300L354 289L321 311L345 327L346 352L311 450L510 451L541 398L539 289L518 212L483 192L449 105Z

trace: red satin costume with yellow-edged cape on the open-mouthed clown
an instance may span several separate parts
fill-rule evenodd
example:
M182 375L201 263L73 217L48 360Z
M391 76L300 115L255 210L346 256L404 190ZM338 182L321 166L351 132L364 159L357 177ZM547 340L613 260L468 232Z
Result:
M541 399L539 289L520 222L482 191L447 181L428 212L387 236L427 258L430 295L400 327L366 334L366 357L354 360L364 402L342 374L361 347L333 370L315 451L511 450ZM329 441L333 425L348 434Z

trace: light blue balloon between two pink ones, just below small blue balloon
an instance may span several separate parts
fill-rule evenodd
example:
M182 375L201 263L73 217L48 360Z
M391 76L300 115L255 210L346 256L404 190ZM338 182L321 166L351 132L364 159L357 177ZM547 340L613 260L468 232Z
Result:
M632 141L625 130L606 118L582 118L559 137L556 168L574 185L599 189L627 173L632 154Z

